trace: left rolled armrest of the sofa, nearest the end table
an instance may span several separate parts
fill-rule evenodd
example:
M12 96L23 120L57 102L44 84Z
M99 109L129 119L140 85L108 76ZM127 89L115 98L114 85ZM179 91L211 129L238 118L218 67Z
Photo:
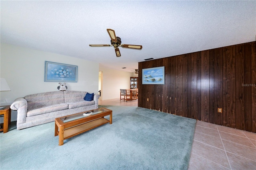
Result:
M12 110L17 110L17 124L25 123L27 111L28 111L28 102L24 98L17 98L14 100L10 106Z

